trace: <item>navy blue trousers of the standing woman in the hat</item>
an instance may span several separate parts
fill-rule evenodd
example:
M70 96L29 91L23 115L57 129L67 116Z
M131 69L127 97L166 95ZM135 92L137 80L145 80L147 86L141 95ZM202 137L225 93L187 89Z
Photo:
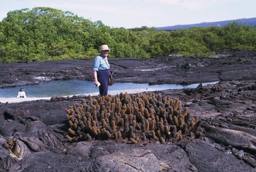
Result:
M99 85L100 96L108 96L109 76L110 76L109 70L97 71L97 78L100 83Z

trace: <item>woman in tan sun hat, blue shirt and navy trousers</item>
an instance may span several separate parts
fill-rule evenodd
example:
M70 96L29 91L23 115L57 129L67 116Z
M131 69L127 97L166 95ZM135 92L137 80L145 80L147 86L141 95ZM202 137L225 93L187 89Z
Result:
M108 95L110 64L106 56L108 56L109 53L110 49L108 45L102 45L100 47L100 55L94 59L93 78L94 84L99 87L100 96Z

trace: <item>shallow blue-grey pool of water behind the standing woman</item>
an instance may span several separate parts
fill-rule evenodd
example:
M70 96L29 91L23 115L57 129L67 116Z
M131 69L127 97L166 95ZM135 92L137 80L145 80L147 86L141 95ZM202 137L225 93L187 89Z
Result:
M215 84L217 82L202 83ZM115 83L109 87L109 91L127 91L138 90L138 92L155 91L155 90L169 90L169 89L183 89L196 88L197 84L191 85L177 85L177 84L161 84L148 85L147 83ZM53 80L34 85L25 85L23 87L0 89L0 97L12 98L16 97L18 91L24 88L27 97L53 97L57 95L70 96L79 94L90 94L99 92L94 82L84 80Z

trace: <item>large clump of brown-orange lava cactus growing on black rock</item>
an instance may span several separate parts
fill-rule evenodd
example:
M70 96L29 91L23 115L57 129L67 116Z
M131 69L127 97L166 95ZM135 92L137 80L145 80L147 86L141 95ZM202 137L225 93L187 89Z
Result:
M165 143L194 137L202 123L182 108L179 99L154 93L89 95L66 112L70 142L121 139L136 144L149 139Z

